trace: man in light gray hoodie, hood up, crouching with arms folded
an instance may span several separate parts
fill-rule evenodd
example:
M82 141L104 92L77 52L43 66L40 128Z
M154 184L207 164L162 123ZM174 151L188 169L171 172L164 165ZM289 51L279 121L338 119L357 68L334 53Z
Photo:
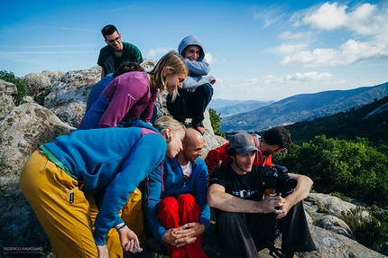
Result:
M189 67L189 76L183 82L183 87L178 89L175 100L172 100L171 95L167 96L167 109L182 123L186 118L191 118L191 126L203 135L204 112L213 96L212 85L216 78L208 76L210 65L205 60L202 43L196 36L189 35L180 41L178 52Z

